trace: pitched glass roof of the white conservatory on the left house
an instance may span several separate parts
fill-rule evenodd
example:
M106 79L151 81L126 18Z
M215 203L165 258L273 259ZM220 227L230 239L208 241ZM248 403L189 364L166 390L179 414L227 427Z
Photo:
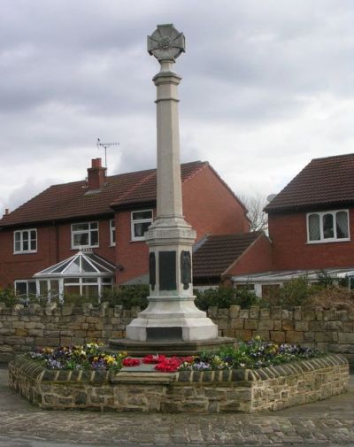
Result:
M112 276L115 266L93 251L80 250L75 255L54 266L34 274L34 278L57 278L61 276Z

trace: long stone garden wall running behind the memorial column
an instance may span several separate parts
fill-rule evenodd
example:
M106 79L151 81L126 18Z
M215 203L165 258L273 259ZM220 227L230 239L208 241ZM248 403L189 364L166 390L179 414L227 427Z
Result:
M0 303L0 361L39 346L60 346L92 341L106 343L125 335L126 325L139 312L114 308L93 308L90 304L42 307L31 304L6 308ZM233 305L211 307L208 315L219 326L219 335L249 340L260 335L277 343L301 343L323 351L344 354L354 364L354 309L289 311L280 307L250 310Z

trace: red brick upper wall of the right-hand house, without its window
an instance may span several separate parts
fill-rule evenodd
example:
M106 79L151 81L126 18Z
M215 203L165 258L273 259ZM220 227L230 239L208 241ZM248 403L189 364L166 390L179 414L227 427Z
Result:
M306 213L269 214L273 242L273 270L321 269L353 265L354 242L307 243ZM350 235L354 209L350 210Z

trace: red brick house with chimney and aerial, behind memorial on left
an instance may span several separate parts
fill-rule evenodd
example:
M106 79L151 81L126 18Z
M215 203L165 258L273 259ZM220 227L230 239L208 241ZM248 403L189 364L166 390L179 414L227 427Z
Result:
M48 267L58 263L57 273L62 268L72 276L87 267L80 279L81 290L96 284L89 272L92 276L101 267L104 272L108 264L117 283L146 274L148 248L143 233L155 215L156 170L108 177L105 171L96 158L87 181L51 186L4 215L0 220L0 287L15 284L20 293L35 293L34 274L47 277ZM197 239L248 232L247 211L212 166L200 161L181 165L181 179L183 211ZM92 250L96 258L75 258L81 249ZM71 260L63 264L65 259ZM56 289L53 284L43 280L44 289ZM64 282L64 289L77 290L79 282L75 284Z

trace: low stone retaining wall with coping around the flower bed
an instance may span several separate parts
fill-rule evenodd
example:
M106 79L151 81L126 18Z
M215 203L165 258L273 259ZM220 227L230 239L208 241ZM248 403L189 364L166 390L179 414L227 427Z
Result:
M127 369L127 368L126 368ZM46 409L118 412L262 412L326 399L346 390L348 361L340 355L257 370L53 371L19 356L10 386Z

